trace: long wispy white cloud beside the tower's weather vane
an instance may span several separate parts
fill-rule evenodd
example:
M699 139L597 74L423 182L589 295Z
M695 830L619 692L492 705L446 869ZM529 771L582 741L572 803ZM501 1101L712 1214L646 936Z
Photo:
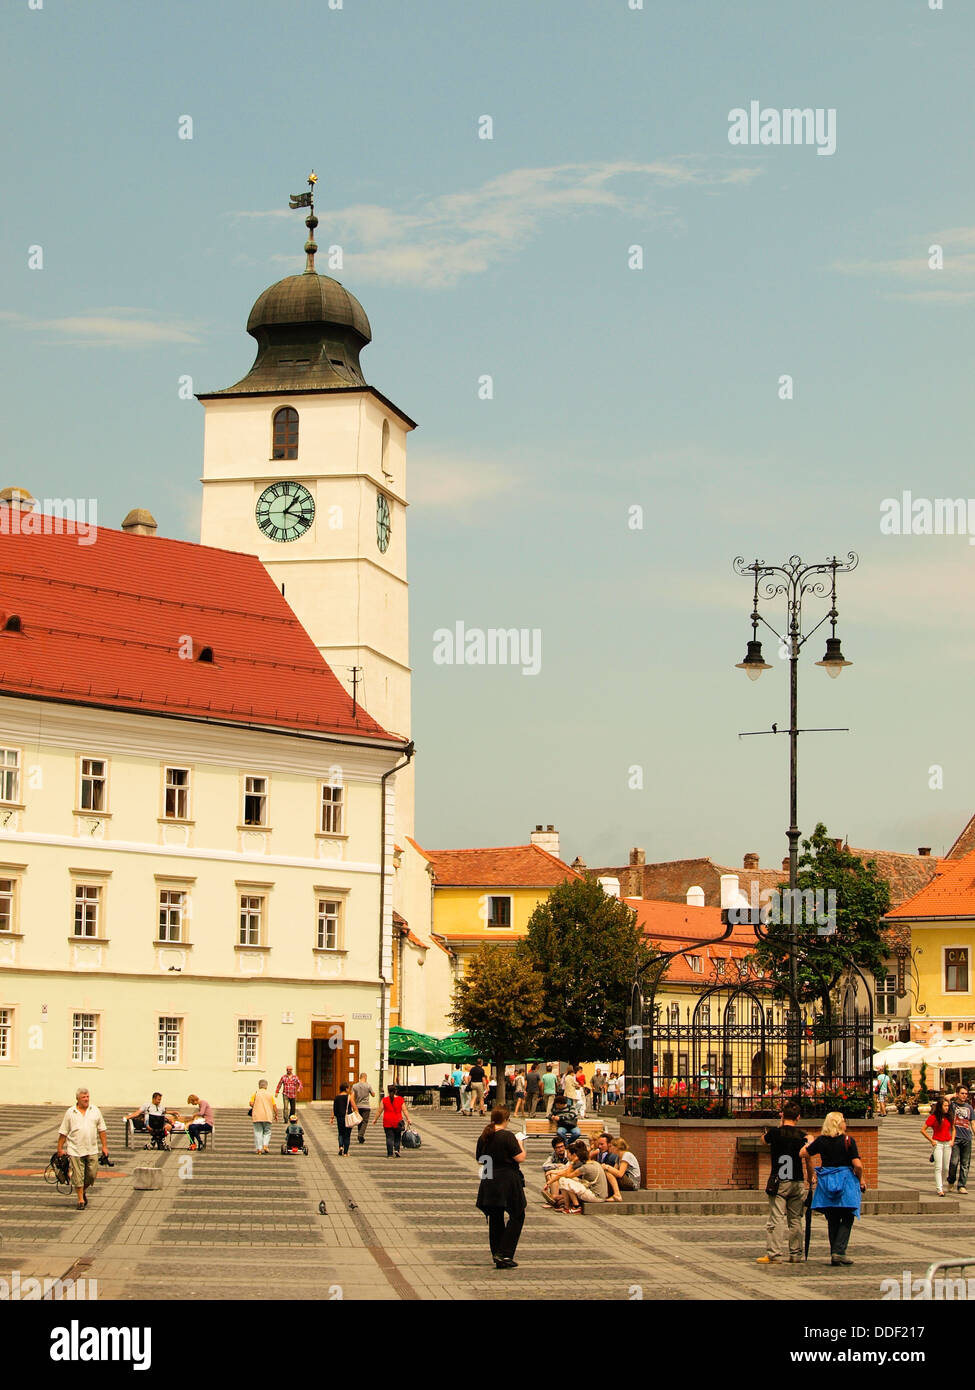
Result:
M444 289L483 274L535 238L547 220L609 210L644 221L672 215L659 189L744 186L757 167L680 157L637 163L556 164L510 170L480 188L421 199L398 210L377 203L319 208L320 242L344 247L344 271L359 281ZM239 217L293 217L285 208ZM355 249L353 249L355 247ZM293 264L293 254L273 260Z

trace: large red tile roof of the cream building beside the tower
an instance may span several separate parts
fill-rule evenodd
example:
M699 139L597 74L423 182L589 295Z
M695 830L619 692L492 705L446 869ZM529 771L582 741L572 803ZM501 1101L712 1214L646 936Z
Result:
M253 555L99 527L0 530L0 694L394 738L357 709ZM213 648L213 663L198 656Z

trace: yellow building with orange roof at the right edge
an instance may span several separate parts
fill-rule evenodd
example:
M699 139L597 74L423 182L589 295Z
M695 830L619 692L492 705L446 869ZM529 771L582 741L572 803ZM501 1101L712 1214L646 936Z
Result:
M975 1036L975 851L939 859L936 877L886 920L911 933L911 1040Z

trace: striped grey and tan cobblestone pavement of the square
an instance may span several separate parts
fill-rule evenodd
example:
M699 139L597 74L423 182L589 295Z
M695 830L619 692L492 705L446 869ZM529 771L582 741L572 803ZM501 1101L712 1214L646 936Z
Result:
M757 1193L741 1194L744 1209L718 1215L601 1208L561 1216L538 1197L548 1141L533 1138L519 1268L498 1272L474 1208L476 1119L420 1111L419 1151L387 1159L381 1127L370 1126L366 1143L353 1140L338 1158L330 1109L305 1106L310 1154L289 1158L277 1151L281 1125L271 1154L253 1152L243 1111L218 1112L204 1154L125 1151L122 1112L106 1111L117 1166L99 1170L88 1211L75 1212L74 1194L60 1195L42 1176L61 1113L0 1108L0 1276L95 1277L100 1298L876 1300L882 1279L900 1282L904 1269L919 1277L935 1259L975 1255L975 1195L935 1200L917 1116L882 1123L880 1195L921 1191L924 1209L893 1204L867 1216L850 1269L828 1264L819 1216L808 1264L755 1265L765 1240ZM134 1187L143 1163L161 1166L161 1190Z

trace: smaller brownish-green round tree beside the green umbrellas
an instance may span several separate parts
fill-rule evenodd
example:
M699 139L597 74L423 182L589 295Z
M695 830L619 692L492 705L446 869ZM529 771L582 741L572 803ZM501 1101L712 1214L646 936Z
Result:
M541 977L523 942L481 945L455 986L451 1017L459 1029L467 1030L472 1048L494 1062L498 1105L502 1105L505 1062L531 1055L551 1023Z

